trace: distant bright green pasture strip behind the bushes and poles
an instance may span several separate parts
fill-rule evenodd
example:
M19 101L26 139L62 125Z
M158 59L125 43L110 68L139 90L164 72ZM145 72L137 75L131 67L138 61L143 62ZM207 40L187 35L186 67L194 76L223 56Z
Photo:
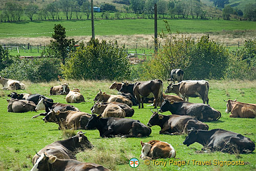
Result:
M167 19L175 33L210 33L223 30L255 30L253 21ZM67 36L91 35L91 20L20 21L0 23L0 37L51 37L54 25L66 28ZM95 20L95 35L154 34L154 19ZM158 19L158 32L165 30L162 19ZM10 35L6 35L10 34Z

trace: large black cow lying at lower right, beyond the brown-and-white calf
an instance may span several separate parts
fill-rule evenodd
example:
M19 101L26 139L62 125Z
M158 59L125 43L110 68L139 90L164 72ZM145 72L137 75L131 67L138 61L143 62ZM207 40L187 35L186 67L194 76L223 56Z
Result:
M255 144L241 134L226 131L223 129L213 129L210 131L196 130L192 128L183 144L189 146L198 142L204 146L202 150L221 151L224 153L251 153L255 149Z

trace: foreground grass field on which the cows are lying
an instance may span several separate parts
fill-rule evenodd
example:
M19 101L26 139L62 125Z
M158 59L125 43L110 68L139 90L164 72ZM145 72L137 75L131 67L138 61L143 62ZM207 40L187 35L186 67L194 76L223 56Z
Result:
M17 92L49 94L49 89L59 82L32 84L25 82L26 90ZM256 82L255 81L209 81L209 104L211 107L219 110L222 117L218 121L206 123L209 129L222 128L225 130L240 133L249 137L254 143L256 141L255 119L248 118L229 118L225 113L226 103L223 99L237 99L245 103L256 102ZM82 88L81 93L87 102L72 104L83 112L90 113L93 106L93 98L101 88L110 94L116 94L116 90L110 90L108 87L111 82L102 81L69 81L70 87ZM167 83L164 84L164 89ZM58 125L54 123L44 123L42 117L31 119L35 112L28 113L8 113L6 102L7 94L11 91L0 90L0 170L30 170L32 167L31 159L35 151L39 151L44 146L56 140L63 139L62 131L58 130ZM66 103L65 95L51 96L54 102ZM199 98L190 98L190 102L201 103ZM150 107L138 109L133 107L135 114L133 119L139 119L146 124L151 116ZM153 109L154 110L154 109ZM38 114L38 112L37 112ZM163 114L170 114L169 112ZM82 130L84 131L84 130ZM136 170L255 170L255 151L252 154L230 155L220 152L200 153L202 145L194 143L187 147L182 142L185 135L169 136L159 135L160 127L153 126L152 134L146 138L100 138L97 130L86 130L86 136L93 143L95 148L77 154L77 159L84 162L95 162L102 164L112 170L134 170L129 166L129 160L132 157L139 158L141 153L140 141L162 140L172 144L177 152L175 161L211 160L211 165L189 165L183 166L156 166L152 163L146 166L142 160ZM213 160L220 161L244 161L245 165L239 166L220 166L214 165ZM163 161L159 159L158 161Z

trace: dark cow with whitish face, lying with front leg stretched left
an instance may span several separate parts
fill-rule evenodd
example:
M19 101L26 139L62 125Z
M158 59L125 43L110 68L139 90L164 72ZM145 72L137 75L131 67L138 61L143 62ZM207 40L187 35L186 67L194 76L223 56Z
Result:
M80 110L72 105L69 104L62 104L62 103L52 103L49 102L45 99L40 99L40 101L38 102L35 110L46 110L45 113L40 113L38 115L32 116L32 118L36 118L38 116L46 116L47 113L50 112L50 110L53 109L55 112L57 112L58 110L61 112L67 111L67 110L72 110L72 111L78 111L80 112Z

